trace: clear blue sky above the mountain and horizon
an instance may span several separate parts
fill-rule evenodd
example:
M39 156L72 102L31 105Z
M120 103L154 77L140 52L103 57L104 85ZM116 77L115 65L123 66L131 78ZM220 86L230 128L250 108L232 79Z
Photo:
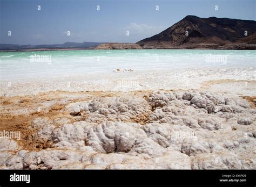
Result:
M0 0L0 43L137 42L187 15L255 20L255 0ZM41 6L41 11L37 6ZM100 10L97 10L97 5ZM156 10L156 5L159 10ZM215 11L218 5L218 11ZM11 31L11 36L8 36ZM68 36L66 33L70 31ZM130 35L126 35L126 31Z

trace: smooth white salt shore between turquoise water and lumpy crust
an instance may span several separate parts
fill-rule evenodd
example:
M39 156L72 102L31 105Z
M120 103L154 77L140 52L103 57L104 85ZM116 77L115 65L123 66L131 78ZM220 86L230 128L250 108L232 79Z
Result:
M145 91L145 90L199 90L207 82L215 84L211 91L231 92L254 96L256 89L253 67L221 67L218 69L155 69L107 73L66 75L63 77L7 78L0 81L0 96L36 95L48 91ZM233 84L232 82L237 82ZM215 90L214 90L215 89Z

